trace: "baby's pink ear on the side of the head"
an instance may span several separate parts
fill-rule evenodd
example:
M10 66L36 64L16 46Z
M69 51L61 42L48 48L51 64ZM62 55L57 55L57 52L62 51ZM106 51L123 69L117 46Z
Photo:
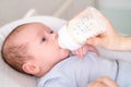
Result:
M35 75L39 72L39 66L32 62L24 63L22 69L24 72L32 74L32 75Z

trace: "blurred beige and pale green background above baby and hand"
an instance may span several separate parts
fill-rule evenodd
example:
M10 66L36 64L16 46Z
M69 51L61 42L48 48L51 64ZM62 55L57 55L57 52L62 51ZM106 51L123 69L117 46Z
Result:
M0 0L0 26L23 17L31 9L70 20L87 5L99 9L119 33L131 35L131 0Z

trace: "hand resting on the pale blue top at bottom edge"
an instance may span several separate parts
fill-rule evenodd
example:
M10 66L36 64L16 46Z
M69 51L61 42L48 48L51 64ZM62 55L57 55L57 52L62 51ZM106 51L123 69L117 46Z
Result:
M100 77L87 85L87 87L119 87L115 80L109 77Z

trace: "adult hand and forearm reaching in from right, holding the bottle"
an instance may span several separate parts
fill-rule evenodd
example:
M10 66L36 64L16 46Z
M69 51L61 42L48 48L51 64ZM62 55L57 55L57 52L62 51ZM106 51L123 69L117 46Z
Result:
M119 35L109 20L105 17L98 10L95 8L88 7L82 11L75 17L94 17L102 23L102 26L106 29L104 33L99 34L96 37L87 39L88 45L95 47L103 47L108 50L124 50L131 51L131 36Z

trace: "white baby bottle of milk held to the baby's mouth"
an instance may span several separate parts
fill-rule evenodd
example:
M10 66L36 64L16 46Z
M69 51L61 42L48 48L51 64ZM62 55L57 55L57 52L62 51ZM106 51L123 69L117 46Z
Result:
M61 48L75 50L87 39L105 32L104 23L91 16L74 17L58 30L58 44Z

